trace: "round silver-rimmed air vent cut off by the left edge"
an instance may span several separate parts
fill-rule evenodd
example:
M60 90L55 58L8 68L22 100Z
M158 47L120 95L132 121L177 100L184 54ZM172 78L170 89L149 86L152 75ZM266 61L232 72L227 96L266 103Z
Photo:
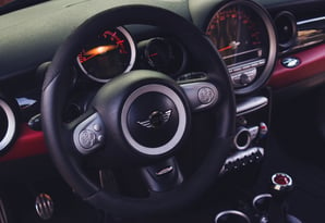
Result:
M17 132L17 106L0 95L0 153L14 141Z

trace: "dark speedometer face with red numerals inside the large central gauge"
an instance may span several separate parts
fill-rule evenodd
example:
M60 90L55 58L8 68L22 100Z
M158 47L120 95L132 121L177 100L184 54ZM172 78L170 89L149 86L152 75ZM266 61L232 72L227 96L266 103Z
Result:
M228 7L213 17L207 28L227 65L266 57L267 32L251 11L241 5Z

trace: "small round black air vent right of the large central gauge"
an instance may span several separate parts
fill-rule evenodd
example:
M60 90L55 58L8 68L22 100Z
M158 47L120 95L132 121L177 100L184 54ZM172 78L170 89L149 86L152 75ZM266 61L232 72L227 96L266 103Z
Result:
M288 49L292 47L297 38L297 22L293 14L288 11L280 12L275 17L275 26L280 48Z

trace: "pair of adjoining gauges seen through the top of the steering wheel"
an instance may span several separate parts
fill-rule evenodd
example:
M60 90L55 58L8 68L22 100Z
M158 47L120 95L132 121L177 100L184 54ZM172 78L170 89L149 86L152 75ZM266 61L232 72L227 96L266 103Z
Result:
M124 27L107 29L84 46L76 63L86 76L98 83L145 69L177 77L186 66L184 47L174 38L155 37L135 42Z

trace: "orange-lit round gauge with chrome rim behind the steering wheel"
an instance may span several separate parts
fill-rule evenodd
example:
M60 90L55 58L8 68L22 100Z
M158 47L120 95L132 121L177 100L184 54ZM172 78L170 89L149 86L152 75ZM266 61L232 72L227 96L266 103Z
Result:
M81 70L92 79L101 83L129 72L134 61L134 41L123 27L104 32L77 55Z

